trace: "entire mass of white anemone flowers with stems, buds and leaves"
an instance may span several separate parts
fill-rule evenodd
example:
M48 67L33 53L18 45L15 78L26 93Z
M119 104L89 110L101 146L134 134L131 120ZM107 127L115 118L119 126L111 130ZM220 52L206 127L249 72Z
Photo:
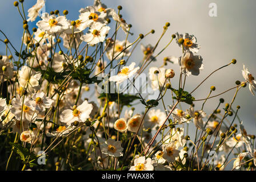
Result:
M23 9L23 1L19 2ZM122 7L118 6L117 13L95 0L93 6L79 10L77 20L68 20L67 10L63 15L59 15L58 10L43 13L36 23L37 28L33 28L33 34L30 34L27 23L37 19L44 5L45 0L38 0L28 10L28 19L21 14L24 28L21 51L16 51L6 38L6 52L11 55L0 56L0 142L12 143L4 147L6 151L12 151L11 154L5 153L10 155L6 169L10 168L13 151L17 152L19 160L23 160L22 169L42 168L33 161L40 157L37 156L38 151L43 151L47 158L53 159L48 161L55 162L46 165L46 169L222 170L229 163L227 159L234 148L238 154L234 154L237 156L233 169L241 166L255 168L255 135L247 134L239 119L239 130L234 123L240 106L237 106L231 124L225 122L227 116L234 113L231 106L239 89L249 84L250 92L253 95L256 92L256 81L245 65L242 70L245 81L236 82L233 89L236 88L237 92L233 101L225 105L224 114L218 109L224 102L222 98L213 113L207 115L203 111L203 105L215 90L214 86L204 99L202 109L195 110L193 102L197 100L191 93L202 83L190 93L183 89L186 77L197 76L203 69L202 57L195 55L201 46L194 35L177 32L171 36L170 43L176 40L182 56L165 57L161 67L149 68L151 88L160 93L156 100L145 101L139 93L97 93L92 85L97 86L100 82L97 76L101 73L106 73L108 78L104 88L109 82L115 82L114 86L118 88L122 82L136 79L151 62L157 61L157 56L170 43L156 56L153 54L158 43L155 46L141 44L143 59L139 67L135 62L126 65L133 49L145 36L154 34L154 30L146 35L140 34L135 42L130 43L127 38L133 35L131 25L122 18ZM14 6L19 8L19 3L14 2ZM115 30L111 38L106 38L111 19L116 23ZM166 23L162 35L169 26L170 23ZM123 41L116 39L119 28L126 34ZM23 44L25 49L22 52ZM10 46L14 48L17 61ZM104 60L105 56L108 61ZM165 68L167 63L180 67L179 89L171 86L175 72ZM232 63L235 64L236 60L226 66ZM108 67L118 69L117 75L109 77ZM133 81L130 83L134 86ZM95 100L89 93L91 89L94 89ZM167 90L173 98L173 105L168 107L163 101ZM87 98L82 99L83 96ZM136 113L134 107L130 107L134 100L141 101L139 104L145 107L145 113ZM152 109L161 101L164 111ZM190 107L178 109L180 102L186 102ZM188 126L190 121L197 130L194 142L188 135L189 127L184 128L184 124ZM15 136L15 139L6 135ZM220 158L214 155L214 163L211 163L211 151L226 154Z

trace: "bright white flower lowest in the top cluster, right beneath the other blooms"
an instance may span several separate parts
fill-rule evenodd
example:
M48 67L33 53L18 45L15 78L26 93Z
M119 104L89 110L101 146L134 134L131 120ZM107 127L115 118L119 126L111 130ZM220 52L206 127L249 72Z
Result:
M99 42L104 42L109 30L109 26L104 26L102 23L97 22L94 23L87 34L82 35L80 39L91 45L98 44Z

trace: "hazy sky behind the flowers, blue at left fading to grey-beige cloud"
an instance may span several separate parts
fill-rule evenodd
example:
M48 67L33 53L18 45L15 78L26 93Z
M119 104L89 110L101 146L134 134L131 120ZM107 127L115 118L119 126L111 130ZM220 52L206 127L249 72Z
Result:
M1 0L0 5L0 29L5 32L16 48L21 45L21 36L23 32L22 19L19 17L17 8L13 6L14 1ZM25 0L26 11L35 4L35 0ZM254 0L102 0L108 7L117 9L118 5L123 6L121 14L127 23L131 23L133 27L131 32L133 36L129 36L129 41L133 42L138 34L146 34L151 29L155 30L155 34L147 36L143 39L143 44L151 43L154 45L166 22L170 22L171 26L163 37L155 52L160 51L171 39L171 34L175 32L193 34L197 37L198 44L201 45L198 54L203 57L205 69L201 71L199 76L189 76L185 90L191 91L199 84L210 72L228 64L231 59L237 59L237 64L230 65L218 71L211 76L196 92L195 98L206 98L209 93L210 86L216 87L213 95L223 92L235 86L235 81L243 81L242 65L245 64L249 71L256 77L256 55L255 55L255 9L256 1ZM217 4L217 17L209 16L209 4ZM46 0L46 12L58 9L61 13L63 10L69 10L68 19L77 19L78 10L81 7L93 4L93 0ZM37 19L38 20L38 19ZM30 23L30 27L35 23ZM3 39L3 36L0 35ZM125 39L123 32L118 33L119 40ZM0 44L0 53L5 52L5 45ZM175 42L158 57L157 64L162 65L165 56L181 56L181 49ZM140 48L134 52L130 60L138 63L142 59ZM168 64L166 68L173 68L177 75L179 74L178 65ZM173 84L178 82L178 76L173 79ZM177 84L176 84L177 85ZM230 102L235 90L232 90L221 97L225 98L225 103ZM218 104L219 98L215 97L207 101L205 111L210 113ZM249 134L255 134L255 101L256 96L252 96L248 86L242 88L237 95L233 107L240 105L241 109L238 113ZM170 104L166 101L166 104ZM196 109L201 109L201 105L195 102ZM223 106L224 107L224 106ZM186 107L184 107L186 109ZM221 107L222 108L222 107ZM222 110L223 113L223 110ZM236 123L238 123L236 121ZM193 126L194 127L194 126Z

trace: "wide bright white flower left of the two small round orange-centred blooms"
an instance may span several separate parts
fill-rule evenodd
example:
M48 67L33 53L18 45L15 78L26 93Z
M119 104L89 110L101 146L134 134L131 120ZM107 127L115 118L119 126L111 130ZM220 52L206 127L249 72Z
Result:
M74 110L63 110L60 115L61 122L66 123L66 125L71 125L75 121L86 122L86 119L90 118L92 110L93 105L88 104L87 101L83 101L83 103L77 106Z

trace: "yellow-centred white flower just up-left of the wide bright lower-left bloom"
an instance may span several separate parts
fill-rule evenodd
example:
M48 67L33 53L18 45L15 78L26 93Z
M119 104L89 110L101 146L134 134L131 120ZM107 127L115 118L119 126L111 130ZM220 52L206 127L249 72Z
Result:
M53 100L50 97L45 97L44 92L34 93L32 96L34 100L35 109L38 111L45 111L46 108L50 108L53 104Z

